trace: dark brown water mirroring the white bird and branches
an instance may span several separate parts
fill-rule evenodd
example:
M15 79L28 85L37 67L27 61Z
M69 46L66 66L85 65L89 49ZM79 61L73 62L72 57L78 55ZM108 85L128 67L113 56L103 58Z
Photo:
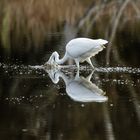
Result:
M140 68L81 66L78 79L75 66L1 63L0 71L1 139L139 138Z

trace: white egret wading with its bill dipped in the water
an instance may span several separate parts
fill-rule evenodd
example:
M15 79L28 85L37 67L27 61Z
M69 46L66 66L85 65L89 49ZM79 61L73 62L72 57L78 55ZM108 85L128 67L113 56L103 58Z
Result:
M66 45L66 52L62 59L59 59L59 54L55 51L50 56L46 64L59 65L63 64L69 58L74 59L77 68L79 69L79 62L87 61L92 68L94 68L90 58L95 56L103 50L104 44L108 43L104 39L90 39L90 38L75 38Z

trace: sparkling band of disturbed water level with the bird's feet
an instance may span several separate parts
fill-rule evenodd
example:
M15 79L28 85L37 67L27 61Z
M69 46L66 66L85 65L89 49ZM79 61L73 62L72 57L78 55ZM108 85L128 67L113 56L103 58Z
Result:
M32 73L44 74L44 69L50 69L51 67L44 67L43 65L16 65L16 64L4 64L0 63L0 69L7 74L15 75L30 75ZM62 71L75 71L75 65L60 66ZM42 72L41 72L42 71ZM80 71L90 72L93 71L91 67L81 66ZM140 74L140 68L135 67L95 67L94 72L96 73L128 73L128 74Z

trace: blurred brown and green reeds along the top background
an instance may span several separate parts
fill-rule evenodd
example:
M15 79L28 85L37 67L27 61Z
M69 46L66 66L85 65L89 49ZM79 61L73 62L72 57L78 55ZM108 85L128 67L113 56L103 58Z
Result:
M32 46L42 46L47 34L61 30L64 22L76 26L86 36L95 31L109 36L121 5L122 1L113 0L1 0L1 47L11 51L23 44L22 50L28 52ZM139 17L139 9L138 0L130 1L119 27L129 20L134 22Z

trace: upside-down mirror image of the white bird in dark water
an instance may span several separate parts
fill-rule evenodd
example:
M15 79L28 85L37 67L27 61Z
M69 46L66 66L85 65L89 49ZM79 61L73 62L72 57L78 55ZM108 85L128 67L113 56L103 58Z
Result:
M66 85L66 92L68 96L77 102L105 102L108 98L104 95L105 93L93 84L90 79L92 73L84 78L79 76L79 71L74 78L69 78L62 71L51 69L46 70L52 82L57 84L61 77Z

